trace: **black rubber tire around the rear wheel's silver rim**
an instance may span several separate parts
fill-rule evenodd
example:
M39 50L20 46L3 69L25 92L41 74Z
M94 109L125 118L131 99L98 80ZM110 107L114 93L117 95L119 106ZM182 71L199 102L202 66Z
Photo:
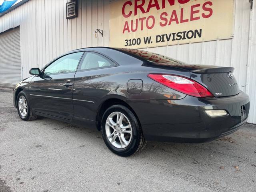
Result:
M106 120L107 120L108 116L110 114L112 114L113 112L121 112L130 121L131 129L132 129L132 136L131 136L132 138L131 138L128 146L126 146L125 148L115 147L114 145L111 144L110 140L108 140L108 138L107 138L105 124L106 124ZM115 104L115 105L111 106L104 112L101 124L102 124L101 131L102 131L103 140L104 140L106 146L115 154L117 154L119 156L123 156L123 157L130 156L130 155L142 150L142 148L144 148L144 146L146 144L146 140L143 137L139 120L134 115L134 113L127 107L125 107L121 104Z

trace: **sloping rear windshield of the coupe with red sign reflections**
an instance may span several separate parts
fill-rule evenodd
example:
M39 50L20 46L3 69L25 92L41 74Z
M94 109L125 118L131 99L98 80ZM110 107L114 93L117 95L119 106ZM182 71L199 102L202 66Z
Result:
M130 53L140 59L147 60L149 62L157 63L157 64L160 64L160 63L169 63L169 64L184 63L184 62L175 60L173 58L170 58L170 57L167 57L164 55L160 55L157 53L152 53L152 52L144 51L144 50L138 50L138 49L118 49L118 50L120 50L122 52Z

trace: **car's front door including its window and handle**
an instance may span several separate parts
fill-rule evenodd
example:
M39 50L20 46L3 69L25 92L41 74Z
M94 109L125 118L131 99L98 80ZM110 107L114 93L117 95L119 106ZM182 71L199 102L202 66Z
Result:
M72 120L74 75L83 53L57 58L32 79L29 94L34 111Z

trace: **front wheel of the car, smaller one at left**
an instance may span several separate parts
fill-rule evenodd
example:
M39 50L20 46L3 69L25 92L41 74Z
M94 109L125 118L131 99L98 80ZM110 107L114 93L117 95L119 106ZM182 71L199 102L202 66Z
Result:
M30 121L36 119L38 116L33 114L28 104L28 99L24 91L19 92L17 96L16 106L20 118L24 121Z

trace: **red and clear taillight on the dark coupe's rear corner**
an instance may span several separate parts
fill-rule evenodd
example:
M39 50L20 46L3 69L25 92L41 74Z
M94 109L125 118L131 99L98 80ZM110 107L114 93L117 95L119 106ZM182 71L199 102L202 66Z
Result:
M148 74L148 77L187 95L194 97L213 97L209 90L190 78L168 74Z

